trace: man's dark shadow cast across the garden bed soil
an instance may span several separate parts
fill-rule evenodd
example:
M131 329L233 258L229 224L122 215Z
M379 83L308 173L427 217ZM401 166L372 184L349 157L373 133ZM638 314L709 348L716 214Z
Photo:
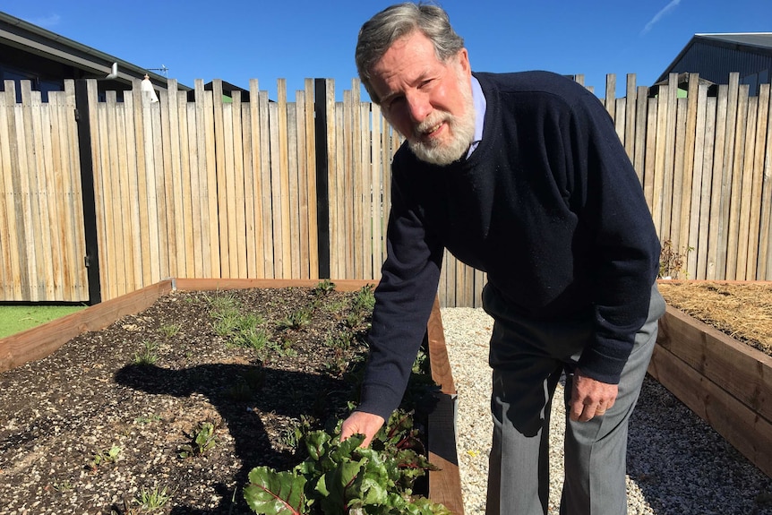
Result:
M323 422L334 415L336 409L344 408L346 399L352 395L351 386L343 380L259 365L198 365L182 370L126 365L118 370L115 379L118 384L150 394L178 398L194 393L205 396L217 408L222 423L234 439L234 452L242 466L232 477L231 485L215 485L222 498L219 506L204 510L176 507L171 511L173 515L252 513L242 490L249 471L259 466L278 470L292 468L302 459L271 446L268 425L263 419L272 416L298 419L305 414ZM274 426L271 431L280 433L281 430Z

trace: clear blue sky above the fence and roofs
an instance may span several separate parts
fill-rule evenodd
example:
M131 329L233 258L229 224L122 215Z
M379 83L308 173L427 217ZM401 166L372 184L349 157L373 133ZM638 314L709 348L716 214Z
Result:
M605 89L636 73L650 85L695 33L772 31L772 0L445 0L436 2L466 40L472 69L584 73ZM113 2L0 0L0 11L169 78L222 79L243 88L256 78L289 99L306 77L331 77L340 92L356 76L356 33L391 2ZM107 72L107 70L106 70ZM160 73L157 71L157 73ZM622 95L623 93L620 92Z

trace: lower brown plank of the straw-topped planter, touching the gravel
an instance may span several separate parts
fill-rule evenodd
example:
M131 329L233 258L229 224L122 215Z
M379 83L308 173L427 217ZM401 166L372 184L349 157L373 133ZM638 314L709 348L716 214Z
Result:
M751 463L772 476L772 424L767 419L660 346L655 348L648 372Z

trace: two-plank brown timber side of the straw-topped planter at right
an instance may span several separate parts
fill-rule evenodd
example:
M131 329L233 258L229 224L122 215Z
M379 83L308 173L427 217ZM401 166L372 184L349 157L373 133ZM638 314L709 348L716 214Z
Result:
M648 373L772 476L772 357L668 306Z

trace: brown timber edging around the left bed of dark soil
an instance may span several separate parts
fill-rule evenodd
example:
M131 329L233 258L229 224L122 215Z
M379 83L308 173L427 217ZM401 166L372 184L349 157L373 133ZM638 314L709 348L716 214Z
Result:
M335 280L336 288L353 291L373 281ZM317 279L167 279L131 294L92 305L39 327L0 339L0 372L48 356L81 332L100 330L127 314L140 313L173 290L212 291L238 288L313 287ZM464 513L456 454L456 390L445 348L439 302L435 300L426 330L432 377L441 387L437 408L429 416L429 459L440 470L429 473L429 497L457 515Z

